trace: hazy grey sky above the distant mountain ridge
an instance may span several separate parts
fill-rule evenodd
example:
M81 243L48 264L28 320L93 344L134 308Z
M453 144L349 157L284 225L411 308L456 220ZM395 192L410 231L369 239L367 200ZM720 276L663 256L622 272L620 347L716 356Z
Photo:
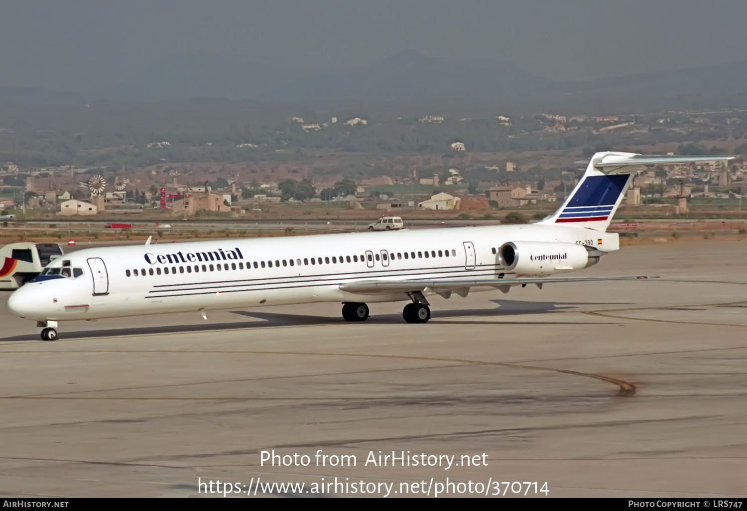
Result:
M190 52L368 65L402 49L557 80L747 60L746 0L3 0L0 84L90 90Z

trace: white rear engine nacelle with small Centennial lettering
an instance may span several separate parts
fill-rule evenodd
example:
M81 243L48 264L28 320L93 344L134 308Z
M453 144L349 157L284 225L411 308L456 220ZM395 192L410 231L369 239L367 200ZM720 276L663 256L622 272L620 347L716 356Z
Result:
M599 262L604 252L586 245L552 241L509 241L498 249L506 270L526 275L549 275L580 270Z

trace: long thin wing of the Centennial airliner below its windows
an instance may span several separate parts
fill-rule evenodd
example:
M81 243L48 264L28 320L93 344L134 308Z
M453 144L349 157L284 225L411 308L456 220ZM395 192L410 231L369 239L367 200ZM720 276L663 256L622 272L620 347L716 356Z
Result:
M357 294L392 294L392 293L416 293L426 288L448 298L451 291L459 296L466 297L469 288L477 286L491 286L507 293L513 285L536 284L542 288L543 284L554 282L592 282L603 280L639 280L658 279L659 276L610 276L610 277L518 277L516 279L433 279L433 280L359 280L341 284L342 291Z

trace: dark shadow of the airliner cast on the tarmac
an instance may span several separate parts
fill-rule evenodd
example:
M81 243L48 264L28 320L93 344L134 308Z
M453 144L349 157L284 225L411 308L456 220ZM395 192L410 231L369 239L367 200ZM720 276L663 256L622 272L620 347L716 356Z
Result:
M620 302L532 302L523 300L489 300L492 303L497 303L498 307L495 309L453 309L453 310L441 310L435 309L433 311L433 319L438 320L438 323L459 323L459 324L470 324L479 323L485 324L486 320L474 320L470 321L466 318L491 318L491 317L502 317L500 320L496 320L495 323L511 323L511 324L536 324L536 321L510 321L506 320L508 316L516 315L532 315L532 314L547 314L552 312L564 312L566 310L571 311L577 309L580 306L601 306L601 305L627 305L627 303ZM375 305L374 305L375 307ZM74 339L74 338L101 338L101 337L123 337L123 336L134 336L134 335L154 335L154 334L165 334L165 333L180 333L180 332L210 332L215 330L234 330L234 329L255 329L255 328L267 328L267 326L318 326L318 325L330 325L336 323L345 323L342 318L334 316L318 316L318 315L302 315L302 314L287 314L279 312L263 312L259 310L252 311L231 311L232 314L247 316L248 318L255 318L260 321L236 321L230 323L192 323L192 324L164 324L160 326L143 326L136 328L105 328L105 329L89 329L89 330L78 330L71 331L61 328L61 340ZM465 318L465 319L460 319ZM453 321L449 321L453 320ZM401 314L384 314L376 315L375 312L371 315L371 318L366 323L378 323L378 324L400 324L403 323ZM542 321L543 324L578 324L579 321L568 320L568 321ZM589 324L589 321L583 321L585 324ZM602 323L598 323L602 324ZM609 324L609 322L604 322ZM412 325L407 325L412 327ZM37 341L37 334L26 334L26 335L13 335L12 337L0 338L1 342L11 341Z

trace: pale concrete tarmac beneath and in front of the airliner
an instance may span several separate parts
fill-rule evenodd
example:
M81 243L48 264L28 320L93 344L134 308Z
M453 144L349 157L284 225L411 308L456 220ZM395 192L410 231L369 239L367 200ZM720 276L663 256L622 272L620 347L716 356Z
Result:
M198 482L220 480L244 498L293 495L273 482L361 496L360 481L433 497L448 478L467 483L450 496L475 495L470 480L502 497L527 482L539 497L545 482L550 497L745 496L746 255L624 247L577 274L662 278L435 297L423 325L403 303L365 323L329 303L62 323L44 342L1 294L0 495L217 498ZM263 464L273 450L309 465ZM356 463L317 465L318 450ZM392 451L436 465L392 466Z

